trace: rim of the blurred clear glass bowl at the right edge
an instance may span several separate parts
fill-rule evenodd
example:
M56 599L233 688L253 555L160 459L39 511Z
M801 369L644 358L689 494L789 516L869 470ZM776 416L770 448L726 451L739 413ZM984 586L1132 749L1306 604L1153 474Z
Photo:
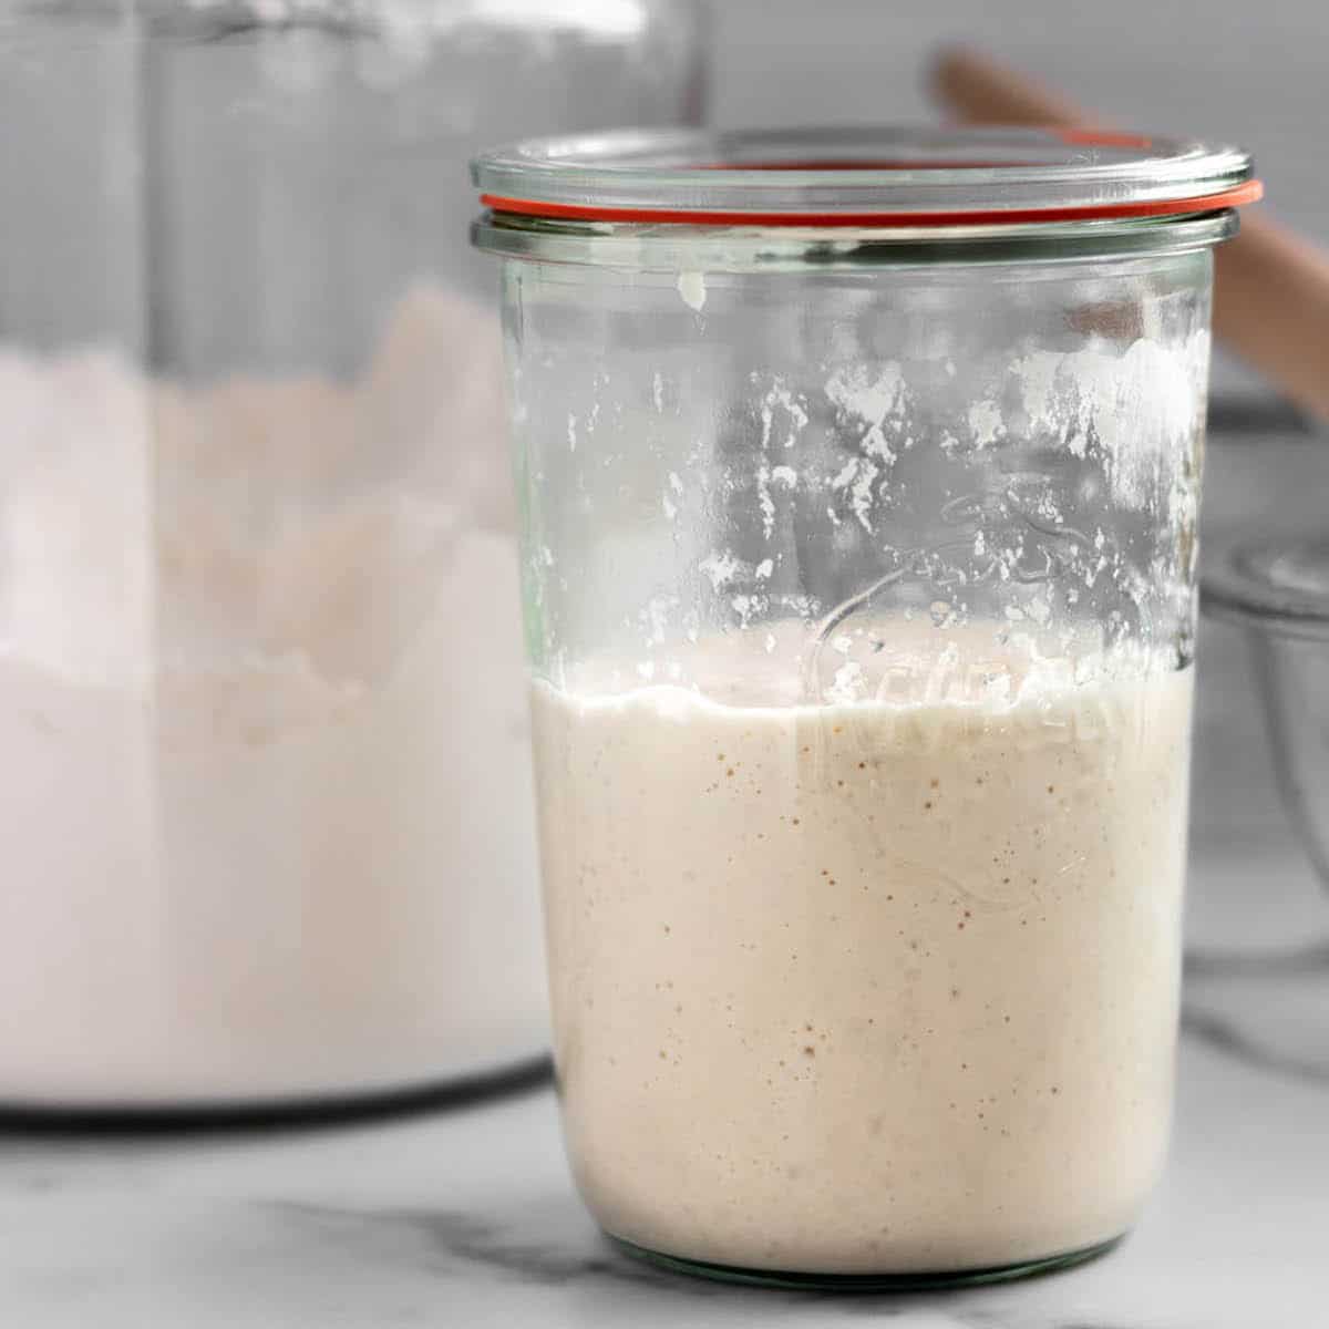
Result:
M1207 613L1277 637L1329 639L1329 537L1284 537L1229 552L1201 585Z

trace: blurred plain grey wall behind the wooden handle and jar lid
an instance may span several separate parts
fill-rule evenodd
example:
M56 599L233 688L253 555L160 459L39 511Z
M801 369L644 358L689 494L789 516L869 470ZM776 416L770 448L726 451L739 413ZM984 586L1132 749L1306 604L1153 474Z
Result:
M925 70L979 47L1104 121L1249 148L1265 206L1329 243L1329 0L715 0L726 128L937 117ZM1220 358L1220 396L1264 385Z

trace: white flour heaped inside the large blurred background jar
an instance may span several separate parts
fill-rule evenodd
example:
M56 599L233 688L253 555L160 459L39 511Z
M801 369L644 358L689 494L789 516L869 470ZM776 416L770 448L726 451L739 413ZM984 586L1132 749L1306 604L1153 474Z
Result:
M352 385L0 352L0 1099L538 1051L498 359L436 288Z

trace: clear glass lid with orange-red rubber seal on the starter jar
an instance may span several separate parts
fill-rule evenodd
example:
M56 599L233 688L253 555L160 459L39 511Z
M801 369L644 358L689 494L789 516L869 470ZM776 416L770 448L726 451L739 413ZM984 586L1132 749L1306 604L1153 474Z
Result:
M1251 203L1249 153L1082 129L618 130L472 165L497 214L690 226L964 227L1185 217Z

